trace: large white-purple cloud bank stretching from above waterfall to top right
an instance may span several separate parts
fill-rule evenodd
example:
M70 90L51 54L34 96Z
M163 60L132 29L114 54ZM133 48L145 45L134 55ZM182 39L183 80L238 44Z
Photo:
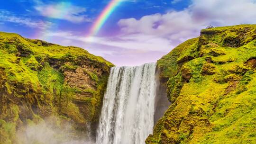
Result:
M176 45L199 36L209 24L217 27L242 23L256 23L256 0L192 0L180 11L120 19L121 31L116 36L85 37L68 31L46 31L44 37L53 43L86 48L116 65L138 65L155 62Z

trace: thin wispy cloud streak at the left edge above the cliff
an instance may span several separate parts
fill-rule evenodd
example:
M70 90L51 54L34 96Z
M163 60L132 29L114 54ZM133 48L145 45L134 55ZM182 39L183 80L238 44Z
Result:
M36 27L39 29L46 29L52 25L51 22L44 22L42 20L32 20L31 18L26 17L18 17L17 15L1 9L0 10L0 21L2 22L12 22L20 25L24 25L26 27Z

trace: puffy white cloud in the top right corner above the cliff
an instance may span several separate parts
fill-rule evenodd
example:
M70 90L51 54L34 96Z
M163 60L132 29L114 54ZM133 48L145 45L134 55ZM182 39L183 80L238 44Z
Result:
M256 0L193 0L192 18L216 25L256 23Z

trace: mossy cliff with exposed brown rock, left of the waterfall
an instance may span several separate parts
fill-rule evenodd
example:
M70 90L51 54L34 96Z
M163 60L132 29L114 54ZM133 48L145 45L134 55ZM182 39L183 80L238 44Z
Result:
M0 144L46 118L94 131L112 66L82 48L0 32Z

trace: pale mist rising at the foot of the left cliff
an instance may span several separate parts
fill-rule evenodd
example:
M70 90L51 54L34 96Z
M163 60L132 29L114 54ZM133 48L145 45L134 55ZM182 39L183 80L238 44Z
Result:
M17 144L95 144L90 133L76 131L71 123L60 124L55 119L47 118L37 124L28 121L27 126L17 130Z

